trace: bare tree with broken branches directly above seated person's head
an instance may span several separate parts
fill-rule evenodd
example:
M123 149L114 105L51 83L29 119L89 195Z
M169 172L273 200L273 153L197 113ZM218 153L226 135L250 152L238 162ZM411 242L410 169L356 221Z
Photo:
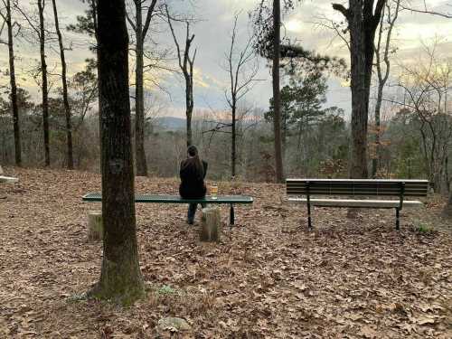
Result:
M190 48L194 40L194 34L190 35L190 21L182 20L185 24L185 46L184 51L181 50L179 42L174 33L173 21L181 21L179 19L174 19L168 11L168 6L165 5L166 18L168 20L168 25L173 35L174 44L177 52L177 60L179 62L179 68L181 69L184 80L185 80L185 115L187 118L187 146L191 146L193 143L192 139L192 115L193 115L193 63L196 58L196 49L194 49L193 55L190 55Z

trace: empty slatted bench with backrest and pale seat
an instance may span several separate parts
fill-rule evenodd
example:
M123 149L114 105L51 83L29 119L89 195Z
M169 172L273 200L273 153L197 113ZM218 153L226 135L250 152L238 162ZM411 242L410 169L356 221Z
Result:
M311 206L395 209L396 229L400 229L400 210L422 206L405 197L427 196L428 180L380 179L287 179L287 196L291 202L307 205L307 225L312 229ZM320 196L313 198L313 195ZM347 197L378 197L383 199L341 199ZM397 199L388 200L390 197Z

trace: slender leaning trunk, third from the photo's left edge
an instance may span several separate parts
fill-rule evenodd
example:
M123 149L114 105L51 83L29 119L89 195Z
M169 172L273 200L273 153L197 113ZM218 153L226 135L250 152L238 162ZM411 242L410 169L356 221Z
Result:
M67 156L68 156L68 169L74 169L74 156L72 147L72 122L71 122L71 107L69 105L68 98L68 81L66 79L67 67L66 58L64 55L64 46L62 44L62 36L60 32L60 24L58 21L58 10L55 0L52 0L53 16L55 18L55 29L58 35L58 44L60 46L60 59L61 59L61 84L62 84L62 101L64 104L64 113L66 116L66 143L67 143Z

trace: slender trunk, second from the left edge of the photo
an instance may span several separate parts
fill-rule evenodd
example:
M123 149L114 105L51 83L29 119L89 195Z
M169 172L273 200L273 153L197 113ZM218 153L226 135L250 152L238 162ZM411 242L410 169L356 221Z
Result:
M50 133L49 133L49 99L47 89L47 64L45 62L45 29L44 29L44 0L38 0L39 10L39 45L42 72L42 126L44 132L45 165L51 165Z

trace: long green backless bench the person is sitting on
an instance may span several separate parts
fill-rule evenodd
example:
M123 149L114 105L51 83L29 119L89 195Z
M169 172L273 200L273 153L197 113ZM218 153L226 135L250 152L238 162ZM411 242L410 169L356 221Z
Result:
M83 195L82 200L84 202L101 202L102 195L100 193L88 193ZM183 199L179 195L153 195L153 194L136 194L135 202L150 202L150 203L219 203L219 204L229 204L230 209L230 222L234 225L235 222L235 212L234 204L250 204L253 202L253 198L250 196L243 195L223 195L217 198L212 198L211 196L205 196L202 199Z

